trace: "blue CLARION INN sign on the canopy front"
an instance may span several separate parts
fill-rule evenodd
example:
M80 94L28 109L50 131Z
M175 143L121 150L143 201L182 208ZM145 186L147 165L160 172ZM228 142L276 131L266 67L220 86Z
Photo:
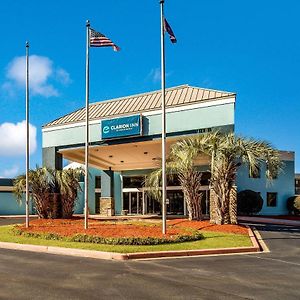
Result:
M141 116L129 116L101 121L102 139L137 136L142 133Z

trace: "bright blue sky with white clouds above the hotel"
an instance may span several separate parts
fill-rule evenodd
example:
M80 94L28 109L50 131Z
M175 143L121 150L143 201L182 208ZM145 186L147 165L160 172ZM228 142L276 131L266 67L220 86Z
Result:
M166 86L237 93L235 129L296 152L300 172L300 1L166 0ZM160 88L158 0L1 3L0 177L25 170L25 41L30 43L30 165L43 124L84 106L85 22L120 48L90 51L90 101Z

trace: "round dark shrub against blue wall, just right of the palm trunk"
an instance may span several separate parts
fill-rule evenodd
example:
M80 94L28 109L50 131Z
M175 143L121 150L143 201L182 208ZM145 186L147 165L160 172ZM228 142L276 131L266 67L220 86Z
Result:
M264 200L259 193L244 190L237 194L237 211L239 215L253 215L261 211Z

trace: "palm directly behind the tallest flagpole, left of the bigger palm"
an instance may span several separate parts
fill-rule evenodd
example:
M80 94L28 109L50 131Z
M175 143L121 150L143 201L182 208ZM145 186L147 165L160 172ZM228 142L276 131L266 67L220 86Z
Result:
M171 146L166 163L168 179L178 176L187 204L189 220L202 220L201 172L195 166L198 154L198 149L189 145L188 140L180 140ZM161 175L160 168L151 172L145 179L145 186L150 187L148 193L157 200L161 199Z

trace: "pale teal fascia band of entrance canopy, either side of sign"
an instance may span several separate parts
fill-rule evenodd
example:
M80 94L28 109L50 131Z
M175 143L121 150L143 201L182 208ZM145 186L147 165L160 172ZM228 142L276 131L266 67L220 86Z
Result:
M234 125L234 103L167 113L167 132L176 133L203 128ZM100 121L90 125L90 141L101 140ZM143 135L161 133L161 114L143 116ZM84 125L43 131L43 148L82 144Z

